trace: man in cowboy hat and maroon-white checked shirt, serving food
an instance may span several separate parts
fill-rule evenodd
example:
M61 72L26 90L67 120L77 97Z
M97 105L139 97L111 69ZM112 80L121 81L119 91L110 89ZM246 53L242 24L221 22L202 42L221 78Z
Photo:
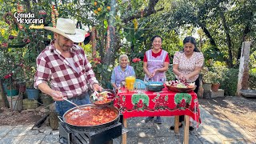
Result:
M63 97L84 105L90 103L89 86L96 91L101 91L102 86L98 85L85 52L74 44L84 41L85 31L76 29L75 23L68 18L58 18L56 28L44 28L54 32L54 41L38 55L34 87L56 101L56 111L62 116L74 107L63 101Z

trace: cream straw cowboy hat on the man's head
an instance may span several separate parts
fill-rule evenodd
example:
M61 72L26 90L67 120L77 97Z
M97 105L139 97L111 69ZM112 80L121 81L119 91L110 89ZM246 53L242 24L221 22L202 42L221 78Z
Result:
M61 34L73 42L83 42L85 40L85 30L76 29L74 21L69 18L58 18L56 28L51 26L45 26L44 28Z

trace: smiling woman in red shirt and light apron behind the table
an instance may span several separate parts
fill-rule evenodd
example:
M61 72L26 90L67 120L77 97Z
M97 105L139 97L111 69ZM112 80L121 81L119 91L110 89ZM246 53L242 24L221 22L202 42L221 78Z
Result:
M145 72L144 81L164 83L170 59L168 53L162 50L162 38L160 36L154 36L151 38L151 42L152 49L146 51L143 59L143 70ZM153 119L154 117L148 117L145 122L149 122ZM162 120L158 116L155 122L161 124Z

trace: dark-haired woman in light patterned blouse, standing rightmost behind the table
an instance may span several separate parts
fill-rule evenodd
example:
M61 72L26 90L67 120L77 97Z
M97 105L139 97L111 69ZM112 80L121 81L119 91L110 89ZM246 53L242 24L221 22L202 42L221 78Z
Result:
M183 82L195 82L197 87L194 92L198 93L198 77L202 69L204 57L202 52L198 50L194 37L184 38L183 45L183 50L174 54L173 71L176 79ZM182 127L182 121L184 121L184 115L179 117L178 127ZM170 130L174 130L174 126L170 126ZM194 128L190 126L190 130L194 130Z

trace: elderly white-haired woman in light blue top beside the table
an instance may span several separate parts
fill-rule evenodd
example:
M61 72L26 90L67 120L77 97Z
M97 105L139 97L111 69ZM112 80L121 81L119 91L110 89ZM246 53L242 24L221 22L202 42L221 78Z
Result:
M118 86L121 86L121 82L125 81L128 76L135 76L134 67L129 66L129 58L126 54L122 54L119 57L119 66L115 66L111 75L111 84L114 90L118 90Z

